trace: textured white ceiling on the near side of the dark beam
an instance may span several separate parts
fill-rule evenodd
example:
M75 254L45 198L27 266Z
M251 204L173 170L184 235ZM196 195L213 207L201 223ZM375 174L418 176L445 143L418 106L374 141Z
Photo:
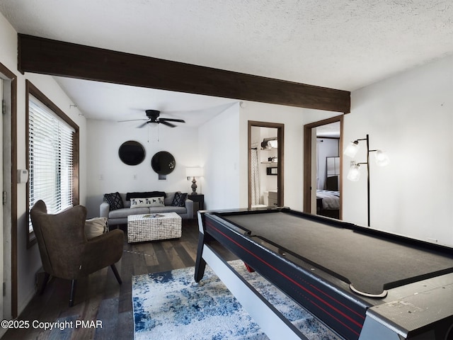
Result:
M19 33L353 91L453 53L453 1L1 0Z

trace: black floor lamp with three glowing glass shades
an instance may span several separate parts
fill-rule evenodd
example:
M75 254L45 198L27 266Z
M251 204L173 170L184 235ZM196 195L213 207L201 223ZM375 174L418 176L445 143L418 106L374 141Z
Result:
M369 214L369 153L370 152L376 152L374 154L376 163L379 166L386 166L389 164L390 160L389 157L385 152L382 150L376 149L376 150L370 150L369 149L369 135L367 135L366 138L362 138L360 140L355 140L354 142L350 142L348 147L346 147L344 154L348 157L354 158L355 155L357 154L357 151L359 150L359 142L361 140L366 140L367 141L367 162L351 162L351 166L348 172L348 179L350 181L358 181L360 179L360 165L361 164L367 164L367 216L368 216L368 227L370 226L370 214Z

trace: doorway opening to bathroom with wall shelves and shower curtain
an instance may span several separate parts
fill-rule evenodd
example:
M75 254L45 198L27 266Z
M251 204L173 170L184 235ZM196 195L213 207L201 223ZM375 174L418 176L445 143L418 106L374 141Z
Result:
M284 127L248 121L248 208L284 204Z

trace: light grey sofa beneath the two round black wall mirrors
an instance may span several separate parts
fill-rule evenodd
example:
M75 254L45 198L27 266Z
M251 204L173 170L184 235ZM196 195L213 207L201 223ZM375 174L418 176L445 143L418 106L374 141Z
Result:
M190 220L193 218L193 200L186 199L183 207L172 205L173 198L176 192L166 193L164 198L165 206L161 207L140 207L131 208L131 201L127 200L126 193L120 193L122 205L124 208L110 210L110 204L107 202L101 203L99 213L101 217L107 217L109 227L112 225L125 225L127 224L127 216L139 214L158 214L161 212L176 212L183 220ZM188 196L189 197L189 196Z

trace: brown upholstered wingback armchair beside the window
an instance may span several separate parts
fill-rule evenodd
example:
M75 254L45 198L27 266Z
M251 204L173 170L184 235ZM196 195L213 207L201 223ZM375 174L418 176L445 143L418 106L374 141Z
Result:
M45 280L42 294L50 276L71 280L69 307L74 305L77 279L110 266L118 283L122 283L115 263L121 259L124 235L114 229L101 236L85 236L86 208L76 205L56 215L47 214L42 200L30 210Z

